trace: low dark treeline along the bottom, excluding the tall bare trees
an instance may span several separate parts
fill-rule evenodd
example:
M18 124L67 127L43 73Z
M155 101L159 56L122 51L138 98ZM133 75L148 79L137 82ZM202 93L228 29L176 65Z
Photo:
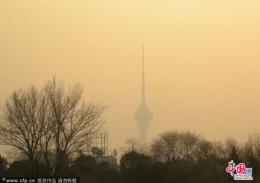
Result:
M118 168L82 154L58 176L78 176L86 183L225 183L234 181L226 172L233 160L236 165L244 163L252 168L251 182L260 182L260 133L241 143L231 137L208 141L189 131L168 131L148 146L128 139L123 150ZM31 175L30 161L14 161L8 166L1 157L0 164L1 176ZM39 176L47 176L47 167L39 165Z

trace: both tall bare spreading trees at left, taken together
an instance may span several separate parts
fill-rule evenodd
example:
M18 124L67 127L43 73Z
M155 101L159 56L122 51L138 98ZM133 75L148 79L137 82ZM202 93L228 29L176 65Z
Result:
M101 104L80 104L82 87L65 91L53 78L38 92L14 92L2 108L0 141L24 153L29 160L41 160L50 175L60 175L77 151L86 151L90 136L99 131L107 108ZM35 175L35 174L34 174Z

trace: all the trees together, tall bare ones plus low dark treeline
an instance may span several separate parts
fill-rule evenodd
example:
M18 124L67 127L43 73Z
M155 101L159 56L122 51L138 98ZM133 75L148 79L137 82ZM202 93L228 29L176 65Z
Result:
M0 145L13 158L0 157L0 176L79 176L86 183L228 182L228 162L252 168L260 182L260 134L242 144L233 138L208 141L186 131L167 131L144 146L128 139L118 167L90 156L93 134L102 131L104 105L81 102L82 87L55 77L37 89L14 91L0 108Z

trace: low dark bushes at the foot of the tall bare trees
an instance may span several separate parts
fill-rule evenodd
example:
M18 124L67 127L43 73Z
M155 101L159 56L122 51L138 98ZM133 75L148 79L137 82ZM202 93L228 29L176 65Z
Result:
M81 182L117 182L118 171L111 168L108 163L96 163L95 159L88 155L80 155L69 166L63 166L62 172L50 176L48 167L43 161L38 162L38 174L32 176L32 164L29 160L15 160L9 163L6 158L0 157L0 177L80 177Z

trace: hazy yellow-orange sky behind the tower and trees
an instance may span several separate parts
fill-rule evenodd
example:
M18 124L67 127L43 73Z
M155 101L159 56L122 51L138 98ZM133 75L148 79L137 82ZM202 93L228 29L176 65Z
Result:
M110 105L109 148L138 137L142 43L148 141L260 131L259 0L0 0L0 105L54 75Z

